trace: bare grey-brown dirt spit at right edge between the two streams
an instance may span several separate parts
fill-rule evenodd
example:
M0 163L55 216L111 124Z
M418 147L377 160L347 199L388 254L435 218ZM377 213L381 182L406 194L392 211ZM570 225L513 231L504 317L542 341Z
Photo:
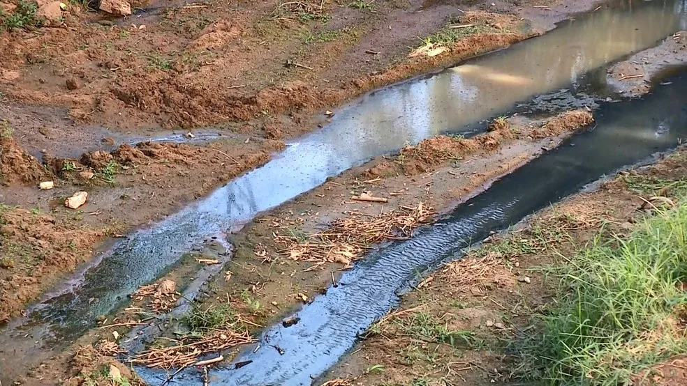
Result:
M686 61L687 31L678 31L660 45L613 65L608 69L607 79L624 96L644 95L658 72Z

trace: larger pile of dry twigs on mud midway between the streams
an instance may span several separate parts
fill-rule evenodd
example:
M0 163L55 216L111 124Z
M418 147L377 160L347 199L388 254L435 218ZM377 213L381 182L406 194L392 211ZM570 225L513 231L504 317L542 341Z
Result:
M285 246L281 253L295 261L314 263L342 263L350 265L361 258L376 242L405 240L413 230L429 222L435 214L431 207L418 203L415 207L401 206L379 215L360 212L346 213L335 220L329 229L302 237L279 235L275 242Z

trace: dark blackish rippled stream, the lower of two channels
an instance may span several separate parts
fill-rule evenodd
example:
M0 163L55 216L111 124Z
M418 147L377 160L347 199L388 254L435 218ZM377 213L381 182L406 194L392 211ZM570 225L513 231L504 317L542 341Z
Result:
M677 146L687 139L687 72L666 80L672 84L657 86L642 100L603 105L593 130L498 180L413 239L365 258L341 277L339 286L298 311L299 323L270 328L257 353L249 347L237 357L236 362L252 360L251 364L211 371L211 384L311 385L345 355L358 333L397 306L398 294L416 281L418 272L460 256L462 249L490 231L505 229L606 173ZM137 371L149 383L158 382L154 372ZM172 385L199 382L191 370Z

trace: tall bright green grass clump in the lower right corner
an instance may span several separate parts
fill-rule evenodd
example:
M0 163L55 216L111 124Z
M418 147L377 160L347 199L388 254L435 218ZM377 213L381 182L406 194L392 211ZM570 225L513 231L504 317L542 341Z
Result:
M687 351L687 203L660 211L626 238L598 236L545 268L559 297L540 333L515 343L517 372L550 385L625 385ZM603 234L603 233L600 233Z

